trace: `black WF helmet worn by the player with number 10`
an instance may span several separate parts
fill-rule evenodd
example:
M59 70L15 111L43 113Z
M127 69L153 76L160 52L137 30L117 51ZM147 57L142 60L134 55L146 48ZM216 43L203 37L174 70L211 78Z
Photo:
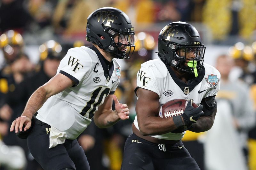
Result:
M95 43L116 58L130 58L134 49L134 28L121 10L100 8L87 18L86 40ZM100 37L103 36L104 39ZM114 38L118 36L118 42Z

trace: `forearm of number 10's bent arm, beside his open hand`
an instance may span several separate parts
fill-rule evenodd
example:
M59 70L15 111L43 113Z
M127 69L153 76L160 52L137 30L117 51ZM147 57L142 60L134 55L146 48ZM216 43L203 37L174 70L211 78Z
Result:
M119 120L121 119L117 115L116 111L111 109L97 116L97 118L94 119L94 122L99 128L108 128Z

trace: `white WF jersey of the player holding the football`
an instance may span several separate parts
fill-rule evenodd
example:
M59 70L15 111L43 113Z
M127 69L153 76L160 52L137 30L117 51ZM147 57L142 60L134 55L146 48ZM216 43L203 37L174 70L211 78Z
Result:
M153 91L159 95L160 105L173 99L193 99L200 104L203 98L215 96L220 89L220 72L209 64L203 64L199 75L192 82L186 84L181 81L160 59L150 60L141 64L137 73L138 87ZM134 124L139 129L137 116ZM156 135L159 139L180 140L183 133L166 133Z

